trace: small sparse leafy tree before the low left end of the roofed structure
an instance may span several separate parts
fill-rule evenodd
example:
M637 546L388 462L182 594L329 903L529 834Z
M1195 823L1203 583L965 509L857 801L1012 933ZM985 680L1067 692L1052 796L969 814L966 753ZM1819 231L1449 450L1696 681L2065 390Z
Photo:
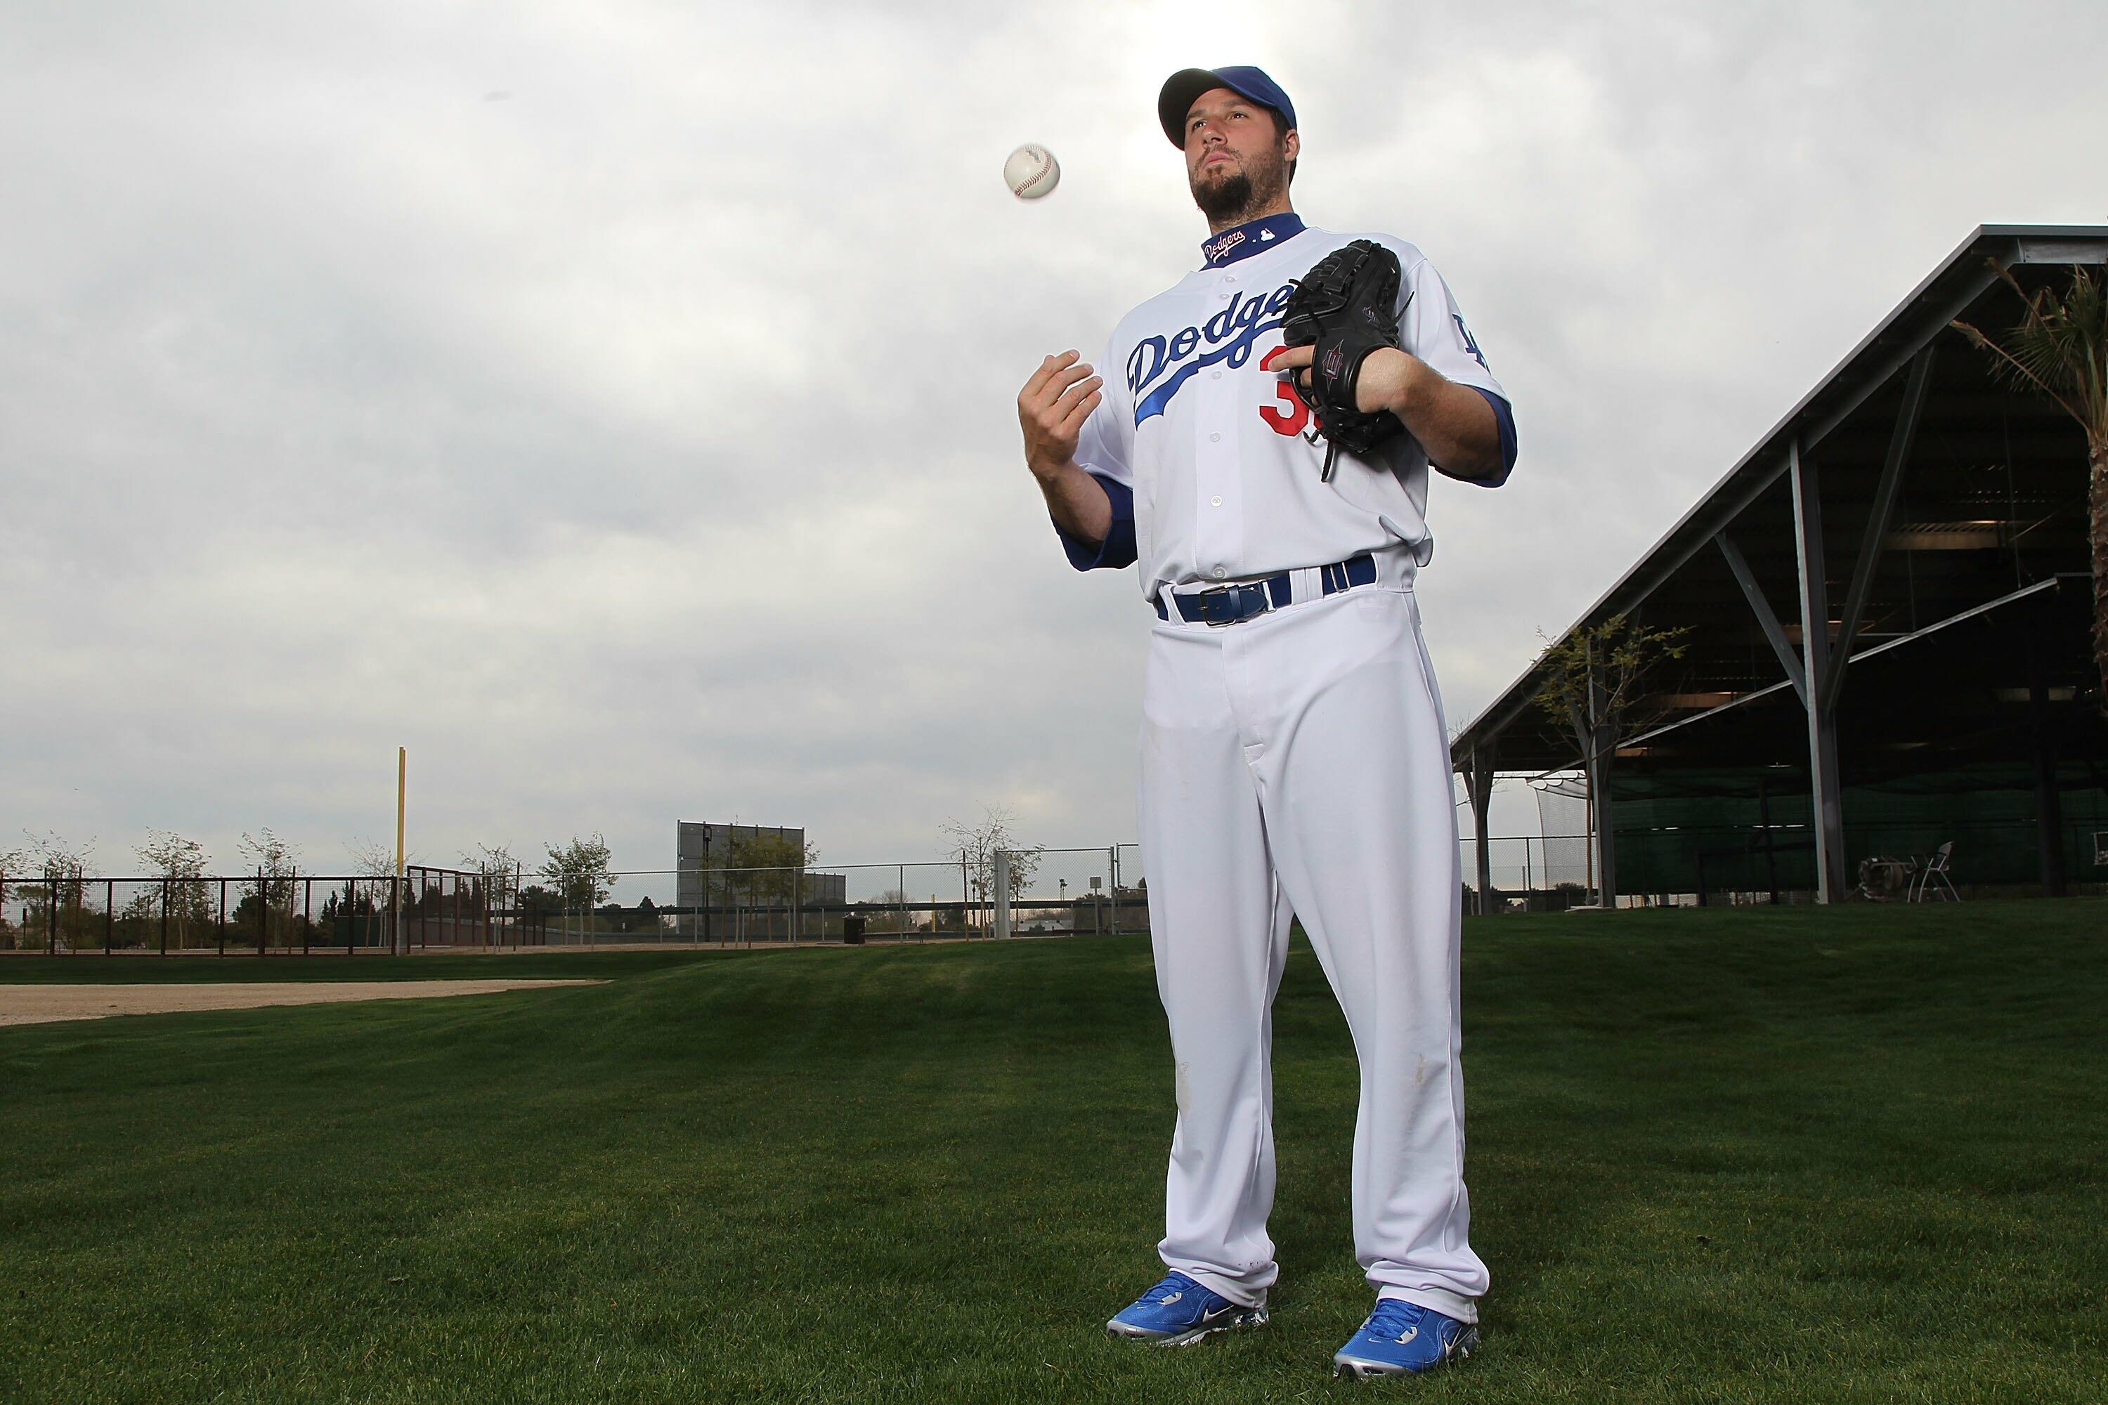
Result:
M1543 685L1537 706L1556 725L1573 729L1587 771L1587 803L1596 813L1596 878L1602 906L1617 904L1617 838L1611 830L1611 760L1617 741L1634 725L1648 674L1663 659L1680 659L1691 630L1648 630L1611 615L1602 624L1575 626L1537 657Z

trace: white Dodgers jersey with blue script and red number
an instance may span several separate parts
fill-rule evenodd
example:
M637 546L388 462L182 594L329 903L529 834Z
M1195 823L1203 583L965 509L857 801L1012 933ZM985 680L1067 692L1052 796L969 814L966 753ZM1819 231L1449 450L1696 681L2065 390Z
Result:
M1261 371L1282 310L1311 263L1355 238L1398 255L1400 343L1488 398L1514 463L1507 392L1425 255L1387 234L1334 234L1296 215L1256 219L1202 244L1204 268L1121 318L1098 373L1105 398L1077 463L1107 484L1102 543L1065 535L1079 569L1138 565L1143 592L1322 567L1362 552L1410 575L1427 565L1427 453L1402 434L1320 480L1324 440L1288 379ZM1505 478L1505 470L1501 474ZM1499 482L1492 478L1488 482Z

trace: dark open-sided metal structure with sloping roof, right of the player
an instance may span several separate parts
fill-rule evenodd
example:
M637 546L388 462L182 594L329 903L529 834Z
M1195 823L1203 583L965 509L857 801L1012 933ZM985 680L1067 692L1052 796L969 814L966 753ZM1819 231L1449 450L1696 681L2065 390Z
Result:
M2085 434L1952 329L2019 322L1998 270L2032 293L2104 263L2108 227L1979 227L1568 626L1682 630L1596 775L1604 889L1838 902L2108 880ZM1482 912L1499 910L1495 775L1583 765L1577 729L1537 704L1547 668L1450 750Z

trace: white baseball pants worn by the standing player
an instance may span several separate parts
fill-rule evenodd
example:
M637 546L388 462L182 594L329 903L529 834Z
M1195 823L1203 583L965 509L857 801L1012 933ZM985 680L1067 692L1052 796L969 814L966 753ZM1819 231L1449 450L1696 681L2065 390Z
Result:
M1457 811L1410 586L1159 621L1140 838L1178 1095L1164 1262L1248 1306L1275 1281L1271 1005L1301 916L1362 1064L1355 1260L1381 1295L1478 1321Z

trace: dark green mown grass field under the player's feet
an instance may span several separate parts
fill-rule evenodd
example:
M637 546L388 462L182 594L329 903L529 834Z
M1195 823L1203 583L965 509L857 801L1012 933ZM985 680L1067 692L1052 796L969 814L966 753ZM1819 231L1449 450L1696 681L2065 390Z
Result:
M1147 942L502 969L616 979L0 1030L0 1401L2108 1394L2104 902L1473 923L1486 1342L1379 1386L1324 1373L1368 1291L1307 950L1273 1325L1180 1352L1098 1329L1157 1277Z

